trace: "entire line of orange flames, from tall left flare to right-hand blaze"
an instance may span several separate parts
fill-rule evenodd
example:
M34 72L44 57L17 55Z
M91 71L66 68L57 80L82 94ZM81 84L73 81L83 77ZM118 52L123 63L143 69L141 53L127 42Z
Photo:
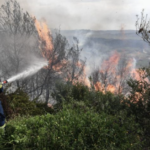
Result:
M64 66L67 67L69 62L67 60L62 60L55 64L55 62L57 62L57 55L51 58L54 51L54 46L52 44L51 33L46 22L39 22L35 19L35 26L39 34L40 49L43 57L49 61L49 66L54 64L51 66L51 69L61 72L61 69ZM124 35L123 29L121 31ZM110 91L112 93L123 93L126 80L128 80L130 77L138 81L142 80L142 76L145 74L145 72L136 69L136 60L134 58L129 58L128 61L123 62L123 66L120 67L119 65L121 61L121 55L118 52L114 52L113 55L102 62L99 67L100 69L96 74L96 80L93 81L93 86L96 91L102 91L104 93L106 91ZM75 70L72 70L72 72L69 70L67 72L67 79L65 80L72 81L73 84L76 82L81 82L86 86L91 87L91 81L87 78L87 68L84 63L78 61L75 65L77 68L79 68L77 69L78 71L83 69L83 74L80 76L80 71L77 73ZM145 81L149 82L148 78L146 78Z

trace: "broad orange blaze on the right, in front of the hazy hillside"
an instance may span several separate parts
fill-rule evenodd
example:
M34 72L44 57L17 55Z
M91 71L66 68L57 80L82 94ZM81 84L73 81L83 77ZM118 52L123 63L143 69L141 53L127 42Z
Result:
M99 71L95 74L94 88L96 91L110 91L111 93L123 93L126 94L128 89L126 81L129 78L142 80L144 72L136 69L136 60L129 58L123 61L122 66L120 62L122 57L118 52L115 52L109 59L104 60L100 66ZM148 79L145 79L148 81Z

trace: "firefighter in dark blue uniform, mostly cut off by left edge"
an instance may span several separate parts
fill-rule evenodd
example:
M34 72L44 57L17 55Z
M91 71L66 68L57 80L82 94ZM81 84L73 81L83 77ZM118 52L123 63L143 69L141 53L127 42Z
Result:
M3 92L3 84L0 83L0 93ZM0 128L4 128L5 127L5 115L4 115L4 110L3 110L3 106L0 100Z

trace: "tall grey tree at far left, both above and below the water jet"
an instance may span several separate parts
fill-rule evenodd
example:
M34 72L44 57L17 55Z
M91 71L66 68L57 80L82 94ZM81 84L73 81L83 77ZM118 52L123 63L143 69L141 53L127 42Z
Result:
M6 1L0 8L0 39L1 76L6 79L43 58L35 18L24 12L15 0ZM17 81L17 87L25 90L31 99L40 96L44 71Z

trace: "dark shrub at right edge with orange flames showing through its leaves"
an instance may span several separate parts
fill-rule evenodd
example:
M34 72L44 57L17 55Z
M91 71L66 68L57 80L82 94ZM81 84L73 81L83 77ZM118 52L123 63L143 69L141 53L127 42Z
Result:
M139 69L140 80L130 79L131 95L126 99L128 116L134 115L144 131L142 140L150 148L150 67Z

